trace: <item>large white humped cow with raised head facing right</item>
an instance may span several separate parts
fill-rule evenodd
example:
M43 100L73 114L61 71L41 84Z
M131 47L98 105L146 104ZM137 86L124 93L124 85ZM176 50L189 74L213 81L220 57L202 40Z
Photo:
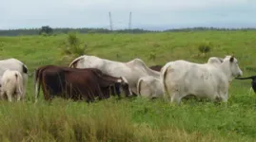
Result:
M228 82L242 76L238 61L226 56L221 63L204 64L175 61L167 62L161 69L161 81L164 91L171 102L181 101L188 95L197 98L228 99Z

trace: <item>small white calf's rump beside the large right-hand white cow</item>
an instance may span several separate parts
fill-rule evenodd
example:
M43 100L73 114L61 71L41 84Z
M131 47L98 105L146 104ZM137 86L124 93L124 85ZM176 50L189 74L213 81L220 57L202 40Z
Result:
M164 95L161 81L152 76L140 78L137 83L137 89L138 94L142 97L160 98Z

